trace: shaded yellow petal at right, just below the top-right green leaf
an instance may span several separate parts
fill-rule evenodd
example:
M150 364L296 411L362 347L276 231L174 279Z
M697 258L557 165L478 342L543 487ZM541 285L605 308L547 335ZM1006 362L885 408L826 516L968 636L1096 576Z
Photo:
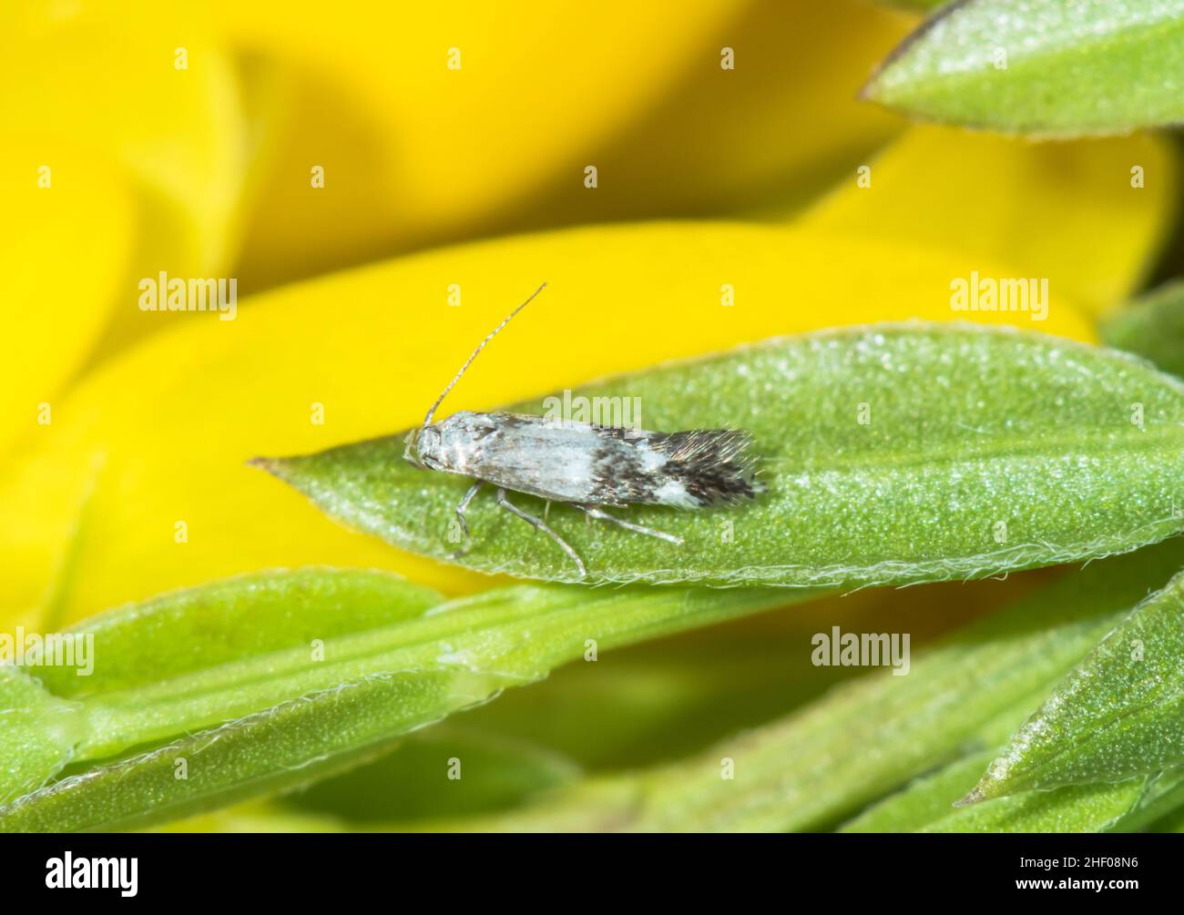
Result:
M1172 150L1153 135L1032 143L919 127L870 165L870 187L852 174L802 225L959 252L964 277L987 276L986 257L1096 312L1137 289L1176 187Z

